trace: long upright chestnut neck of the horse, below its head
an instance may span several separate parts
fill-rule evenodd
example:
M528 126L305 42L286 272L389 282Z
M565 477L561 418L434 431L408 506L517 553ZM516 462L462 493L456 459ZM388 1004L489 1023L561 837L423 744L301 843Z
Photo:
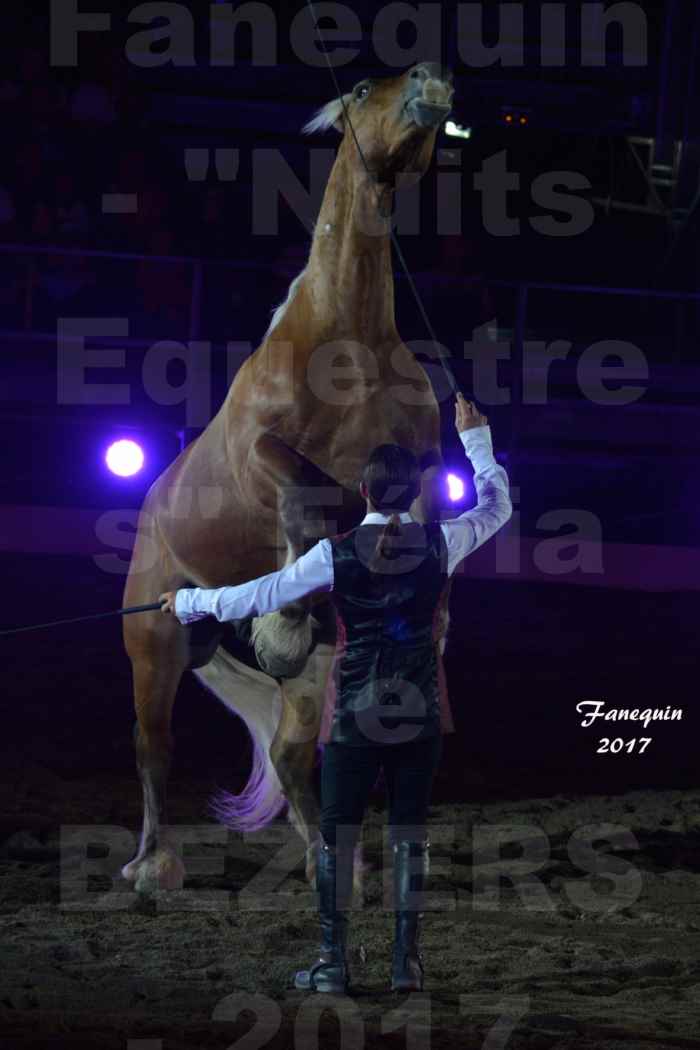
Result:
M348 144L325 189L304 274L324 338L354 338L372 349L396 337L389 219L366 175L354 174ZM382 201L388 209L390 195Z

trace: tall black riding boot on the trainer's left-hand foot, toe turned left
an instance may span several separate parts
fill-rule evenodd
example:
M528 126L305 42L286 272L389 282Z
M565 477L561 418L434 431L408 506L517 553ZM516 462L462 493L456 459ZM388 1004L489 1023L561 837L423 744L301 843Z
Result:
M316 873L322 943L317 962L311 969L296 973L294 987L338 995L349 984L345 908L349 907L353 896L353 849L331 846L321 836Z

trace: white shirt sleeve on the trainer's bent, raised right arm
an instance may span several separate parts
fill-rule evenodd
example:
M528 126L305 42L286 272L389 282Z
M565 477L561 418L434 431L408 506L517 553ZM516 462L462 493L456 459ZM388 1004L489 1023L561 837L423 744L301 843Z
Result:
M493 458L490 426L473 426L461 430L464 450L474 468L476 506L465 510L459 518L441 523L447 543L447 572L449 575L463 558L506 524L513 512L508 488L508 475Z

